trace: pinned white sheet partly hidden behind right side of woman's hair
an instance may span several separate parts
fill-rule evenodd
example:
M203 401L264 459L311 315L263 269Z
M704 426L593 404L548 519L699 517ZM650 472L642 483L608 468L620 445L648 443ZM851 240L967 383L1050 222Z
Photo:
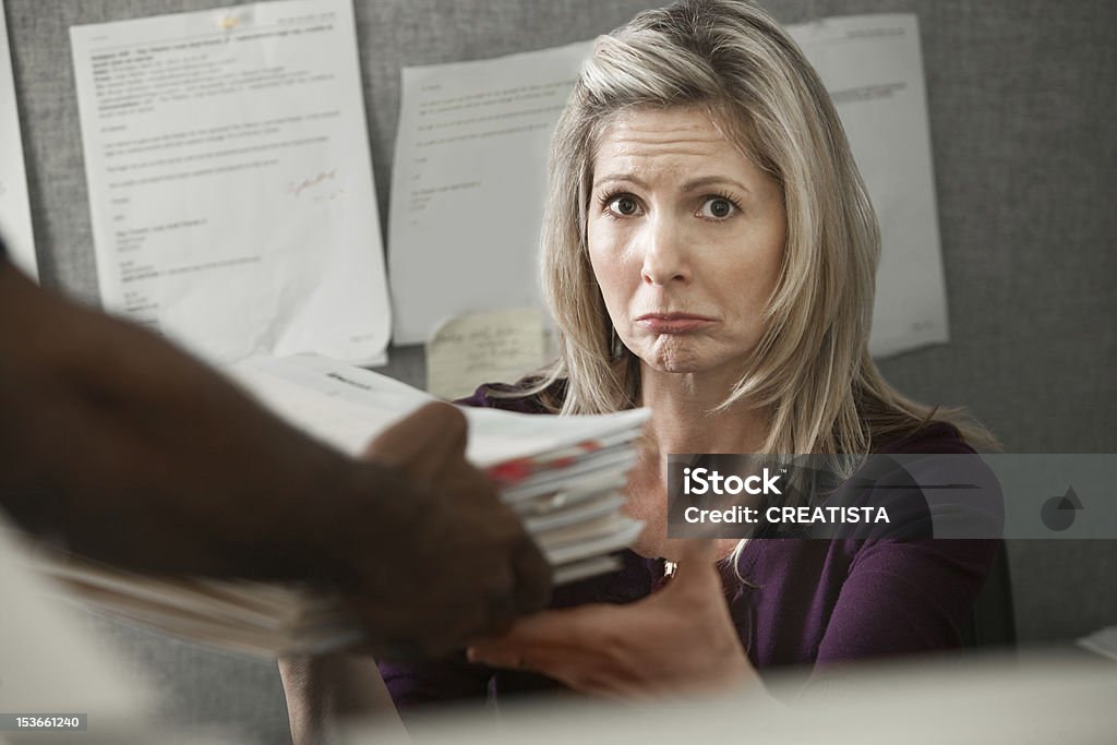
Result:
M830 92L880 220L869 351L948 341L917 18L850 16L787 30Z

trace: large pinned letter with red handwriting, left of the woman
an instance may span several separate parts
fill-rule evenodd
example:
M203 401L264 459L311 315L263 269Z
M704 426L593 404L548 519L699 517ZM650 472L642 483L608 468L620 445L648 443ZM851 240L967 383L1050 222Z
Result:
M70 29L102 298L213 362L382 359L351 0Z

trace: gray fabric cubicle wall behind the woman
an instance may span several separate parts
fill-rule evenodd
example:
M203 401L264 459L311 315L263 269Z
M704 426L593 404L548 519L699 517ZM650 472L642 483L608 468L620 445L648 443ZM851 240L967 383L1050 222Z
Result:
M220 7L210 0L6 0L45 281L96 300L67 28ZM590 38L655 2L355 0L386 216L399 68ZM1117 451L1117 3L770 0L784 22L919 17L953 341L882 362L924 401L961 403L1010 452ZM421 354L389 372L421 383ZM1015 542L1024 641L1117 623L1117 545ZM180 722L284 742L271 666L93 621L168 691Z

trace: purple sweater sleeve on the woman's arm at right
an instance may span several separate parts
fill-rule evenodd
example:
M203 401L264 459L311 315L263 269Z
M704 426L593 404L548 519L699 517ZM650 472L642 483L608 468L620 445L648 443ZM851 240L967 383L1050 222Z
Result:
M876 493L870 504L888 506L900 519L843 542L852 561L819 646L817 672L850 660L960 647L996 555L1003 502L978 456L945 431L891 452L922 453L907 455L900 469L911 484L974 488ZM899 483L896 472L884 483Z

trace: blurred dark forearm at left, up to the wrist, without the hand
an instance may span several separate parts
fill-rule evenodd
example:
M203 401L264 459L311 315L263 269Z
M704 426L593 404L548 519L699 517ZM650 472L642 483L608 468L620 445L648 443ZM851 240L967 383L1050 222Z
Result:
M376 481L137 327L0 262L0 505L161 572L321 580L327 515Z

